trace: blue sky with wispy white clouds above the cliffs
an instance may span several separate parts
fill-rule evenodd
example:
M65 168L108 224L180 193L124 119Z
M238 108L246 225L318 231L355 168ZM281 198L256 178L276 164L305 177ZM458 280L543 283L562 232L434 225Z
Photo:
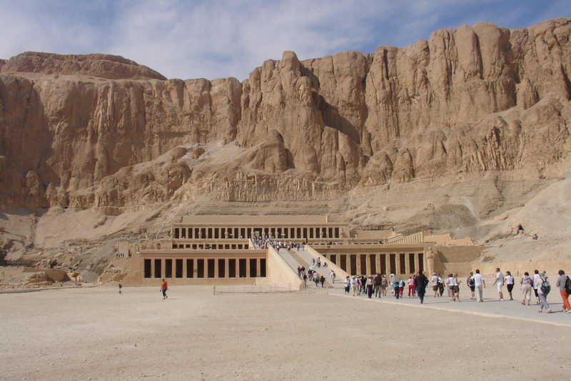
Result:
M570 17L568 0L0 0L0 58L108 53L168 78L245 79L266 59L407 46L436 29Z

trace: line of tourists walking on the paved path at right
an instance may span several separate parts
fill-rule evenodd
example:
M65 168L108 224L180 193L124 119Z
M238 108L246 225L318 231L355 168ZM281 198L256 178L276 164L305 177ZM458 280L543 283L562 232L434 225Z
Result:
M571 295L571 279L567 277L563 270L559 270L559 277L555 287L560 291L563 300L563 312L571 313L569 303L569 296ZM458 274L451 273L448 277L443 277L441 274L433 273L433 276L428 279L423 272L411 274L408 280L405 281L398 274L390 274L388 279L383 274L376 274L375 277L370 275L365 277L361 276L347 276L343 282L345 287L345 295L367 295L372 297L373 292L375 297L386 296L387 289L391 288L391 294L395 299L403 297L405 286L408 285L408 297L420 298L420 303L424 302L426 287L432 284L434 295L433 297L443 297L444 290L448 290L448 297L451 302L460 302L460 284L462 280L458 278ZM480 270L476 269L475 273L470 272L466 278L466 285L470 289L470 300L483 302L483 288L486 287L485 278L480 274ZM500 302L504 300L503 287L506 286L507 294L510 300L513 298L513 288L515 286L515 278L511 272L506 271L503 274L500 269L496 269L495 279L492 285L497 287L497 292ZM525 272L520 277L520 286L522 290L522 305L530 305L532 292L535 293L536 305L540 306L537 312L551 313L552 310L547 304L547 295L551 290L551 285L545 271L539 272L537 269L534 271L533 277L530 277L528 272Z

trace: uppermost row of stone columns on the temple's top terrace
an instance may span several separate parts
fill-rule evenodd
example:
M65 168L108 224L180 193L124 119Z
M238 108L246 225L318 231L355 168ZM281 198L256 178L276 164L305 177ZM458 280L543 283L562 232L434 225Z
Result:
M339 238L339 227L174 227L174 239L251 238L256 234L277 239Z

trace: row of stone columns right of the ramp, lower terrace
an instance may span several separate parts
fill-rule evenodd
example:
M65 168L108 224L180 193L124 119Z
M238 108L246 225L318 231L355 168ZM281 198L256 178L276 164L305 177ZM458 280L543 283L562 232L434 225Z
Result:
M394 266L391 266L391 254L394 255ZM342 255L344 255L345 263L341 263ZM351 266L351 256L355 255L355 268ZM401 263L400 256L404 255L404 267ZM361 264L361 256L365 257L365 269ZM352 275L360 274L376 274L382 272L384 274L413 274L419 270L425 270L423 253L390 253L390 254L327 254L325 255L330 262L337 264L346 272ZM332 258L334 257L334 258ZM384 259L383 259L384 257ZM371 258L375 264L371 263ZM383 266L381 262L383 261ZM393 268L391 268L393 267Z

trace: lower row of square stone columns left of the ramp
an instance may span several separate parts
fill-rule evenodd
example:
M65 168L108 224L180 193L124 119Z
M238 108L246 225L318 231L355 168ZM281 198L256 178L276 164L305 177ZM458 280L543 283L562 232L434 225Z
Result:
M241 261L245 262L242 262L244 266L241 266ZM199 264L202 264L202 266ZM209 276L210 274L212 276ZM146 278L160 279L266 277L266 259L248 257L146 258L143 259L143 275Z

